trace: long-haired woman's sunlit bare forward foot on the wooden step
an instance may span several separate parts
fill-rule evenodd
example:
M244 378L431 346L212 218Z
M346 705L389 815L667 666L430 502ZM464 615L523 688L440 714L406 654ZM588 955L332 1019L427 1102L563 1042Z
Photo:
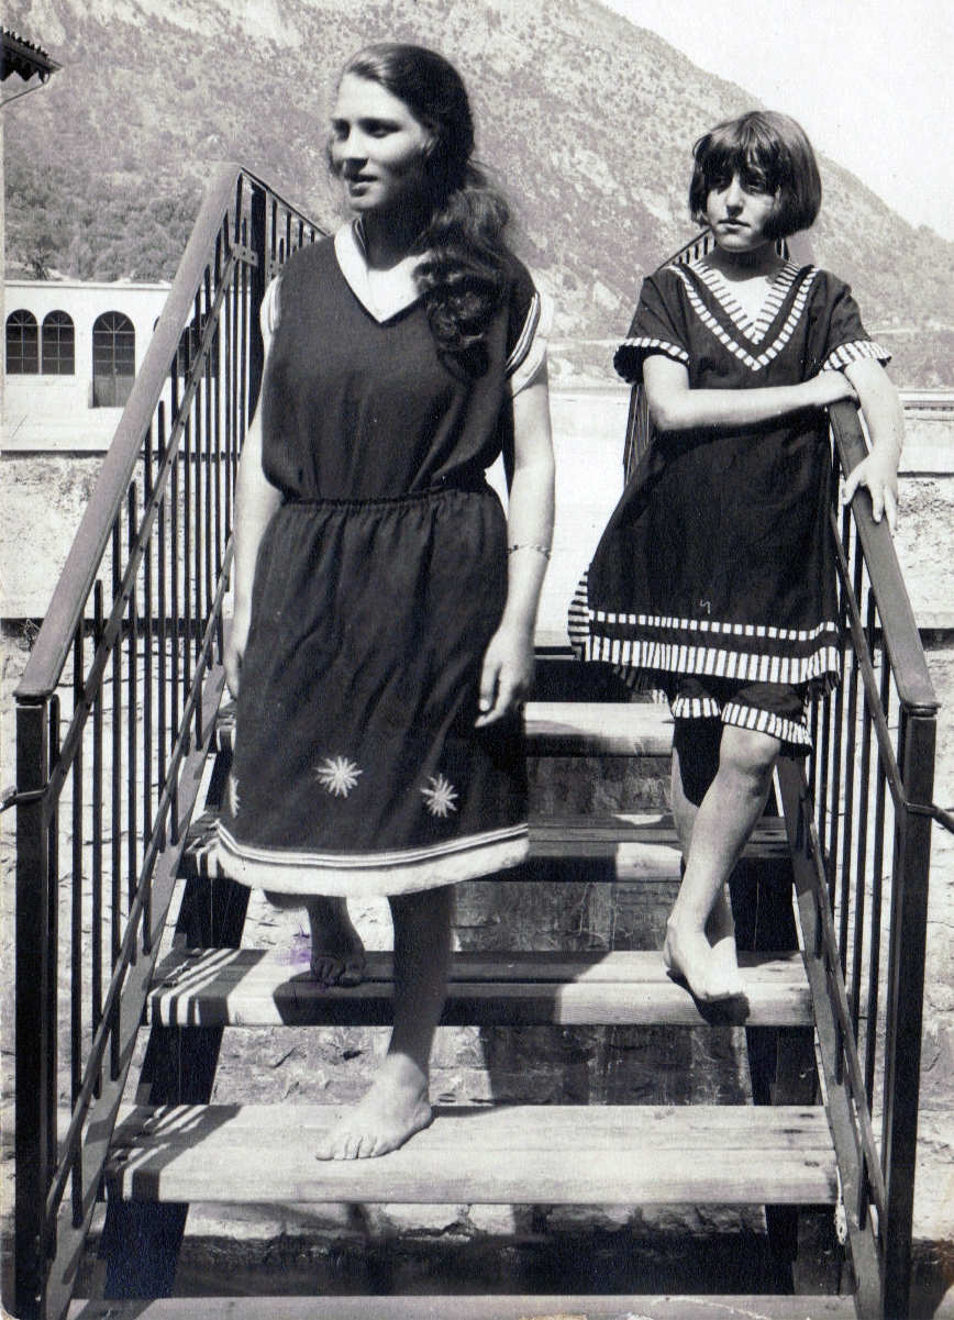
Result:
M371 1159L404 1146L433 1122L428 1080L406 1061L388 1056L371 1090L338 1122L315 1151L315 1159Z

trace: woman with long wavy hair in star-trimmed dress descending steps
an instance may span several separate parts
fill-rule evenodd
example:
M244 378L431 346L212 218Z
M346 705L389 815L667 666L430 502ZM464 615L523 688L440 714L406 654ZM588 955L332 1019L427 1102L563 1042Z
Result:
M290 256L261 309L219 861L306 908L323 985L364 972L348 898L387 895L395 925L388 1052L319 1159L384 1155L431 1121L454 884L528 846L521 706L553 528L545 317L472 150L446 59L359 51L327 145L350 218ZM501 451L505 516L484 478Z

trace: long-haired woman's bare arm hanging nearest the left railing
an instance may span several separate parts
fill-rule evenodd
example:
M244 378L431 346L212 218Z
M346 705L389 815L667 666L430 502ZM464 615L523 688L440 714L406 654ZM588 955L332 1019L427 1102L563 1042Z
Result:
M268 338L265 366L268 366ZM263 381L265 379L263 371ZM252 581L259 545L272 515L281 504L281 492L261 470L261 397L245 434L235 484L235 562L232 568L232 626L226 636L226 682L234 697L239 696L241 657L245 653L248 626L252 619Z

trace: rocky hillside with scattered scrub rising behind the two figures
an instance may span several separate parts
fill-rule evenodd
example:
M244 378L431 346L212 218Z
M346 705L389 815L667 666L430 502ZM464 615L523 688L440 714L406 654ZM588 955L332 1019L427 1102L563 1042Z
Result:
M464 73L517 246L557 297L558 333L582 339L625 329L643 273L691 234L693 140L753 103L595 0L9 0L4 21L65 66L7 116L18 269L172 275L206 165L223 157L333 223L335 73L396 37ZM904 384L950 381L954 244L837 164L823 174L815 260L852 282Z

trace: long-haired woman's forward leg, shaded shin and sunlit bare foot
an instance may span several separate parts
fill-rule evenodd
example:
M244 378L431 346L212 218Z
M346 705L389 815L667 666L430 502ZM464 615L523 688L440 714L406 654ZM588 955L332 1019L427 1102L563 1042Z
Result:
M371 1089L331 1130L318 1159L387 1155L433 1118L428 1098L434 1040L450 966L454 888L391 899L395 920L395 1028Z

